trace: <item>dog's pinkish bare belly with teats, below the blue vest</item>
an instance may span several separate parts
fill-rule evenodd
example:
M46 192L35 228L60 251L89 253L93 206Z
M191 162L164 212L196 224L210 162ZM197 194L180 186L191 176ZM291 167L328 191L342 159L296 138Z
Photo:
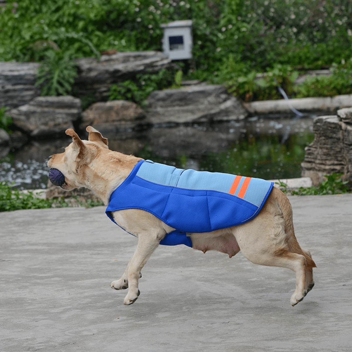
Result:
M236 238L229 230L218 230L210 233L191 234L192 248L205 253L218 251L231 258L240 251Z

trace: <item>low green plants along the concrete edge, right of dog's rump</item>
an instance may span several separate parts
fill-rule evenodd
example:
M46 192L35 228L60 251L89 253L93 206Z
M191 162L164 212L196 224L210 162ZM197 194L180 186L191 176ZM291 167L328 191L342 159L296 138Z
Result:
M343 174L334 172L332 175L325 175L326 180L322 181L318 187L300 187L297 190L287 189L287 184L279 181L278 185L284 193L290 195L327 195L348 193L350 189L346 186L348 181L342 181Z

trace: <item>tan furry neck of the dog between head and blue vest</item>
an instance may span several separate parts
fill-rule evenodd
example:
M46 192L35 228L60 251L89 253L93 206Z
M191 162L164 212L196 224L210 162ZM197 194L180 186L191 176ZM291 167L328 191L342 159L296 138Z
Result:
M87 176L85 180L88 180L84 187L92 190L105 205L108 205L113 191L126 180L134 166L143 159L109 149L101 149L98 154L99 157L95 156L84 170Z

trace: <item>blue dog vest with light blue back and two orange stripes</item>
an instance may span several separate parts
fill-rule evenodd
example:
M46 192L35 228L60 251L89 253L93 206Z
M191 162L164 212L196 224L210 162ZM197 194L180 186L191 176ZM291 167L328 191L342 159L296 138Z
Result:
M273 186L260 178L183 170L142 160L113 191L106 214L114 221L110 212L115 210L146 210L177 229L160 244L192 247L187 233L211 232L252 220Z

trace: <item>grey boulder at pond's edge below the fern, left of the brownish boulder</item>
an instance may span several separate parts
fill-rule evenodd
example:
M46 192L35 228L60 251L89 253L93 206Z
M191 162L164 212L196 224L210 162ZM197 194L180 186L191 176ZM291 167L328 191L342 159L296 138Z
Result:
M81 100L73 96L40 96L10 110L13 124L31 137L63 135L81 114Z

